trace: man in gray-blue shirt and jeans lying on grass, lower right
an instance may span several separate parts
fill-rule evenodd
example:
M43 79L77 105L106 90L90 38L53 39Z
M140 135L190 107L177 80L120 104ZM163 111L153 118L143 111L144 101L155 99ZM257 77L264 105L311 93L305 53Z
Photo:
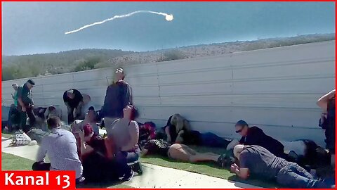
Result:
M279 158L262 146L238 144L234 147L234 156L239 160L239 166L232 164L230 171L242 179L255 175L263 180L276 180L290 188L332 187L324 180L314 179L298 164Z

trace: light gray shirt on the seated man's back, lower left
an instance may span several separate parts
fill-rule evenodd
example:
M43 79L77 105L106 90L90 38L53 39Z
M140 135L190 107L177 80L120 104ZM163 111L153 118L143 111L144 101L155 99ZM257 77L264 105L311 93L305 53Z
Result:
M74 170L81 177L82 165L77 154L76 139L72 132L65 129L53 129L41 142L51 160L51 170Z

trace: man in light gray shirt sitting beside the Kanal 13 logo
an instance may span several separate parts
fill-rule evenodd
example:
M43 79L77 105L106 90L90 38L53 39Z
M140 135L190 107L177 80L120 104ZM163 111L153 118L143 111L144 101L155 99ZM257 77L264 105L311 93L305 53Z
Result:
M77 182L83 182L83 167L77 154L76 139L72 132L61 128L60 118L53 116L47 120L51 133L44 137L37 153L37 162L32 170L73 170L76 172ZM48 154L51 163L45 163Z

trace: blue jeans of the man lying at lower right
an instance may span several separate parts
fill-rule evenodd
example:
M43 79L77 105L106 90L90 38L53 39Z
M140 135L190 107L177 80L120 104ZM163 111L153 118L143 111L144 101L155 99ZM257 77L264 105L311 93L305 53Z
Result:
M286 163L277 174L277 183L290 188L329 188L324 182L314 179L307 170L296 163Z

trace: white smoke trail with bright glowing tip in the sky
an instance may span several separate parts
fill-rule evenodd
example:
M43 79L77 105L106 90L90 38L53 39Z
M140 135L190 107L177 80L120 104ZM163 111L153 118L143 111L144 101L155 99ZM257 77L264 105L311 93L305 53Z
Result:
M94 26L94 25L101 25L101 24L103 24L103 23L105 23L105 22L107 22L107 21L114 20L114 19L116 19L116 18L125 18L125 17L129 17L129 16L134 15L134 14L137 14L137 13L152 13L152 14L157 14L157 15L164 15L164 16L165 16L165 19L166 19L167 21L173 20L173 15L169 15L169 14L167 14L167 13L159 13L159 12L154 12L154 11L135 11L135 12L132 12L132 13L128 13L128 14L126 14L126 15L115 15L115 16L112 17L112 18L107 18L107 19L105 19L105 20L102 20L102 21L96 22L96 23L92 23L92 24L90 24L90 25L85 25L85 26L83 26L83 27L80 27L80 28L77 29L77 30L72 30L72 31L70 31L70 32L65 32L65 34L71 34L71 33L74 33L74 32L79 32L80 30L84 30L84 29L87 28L87 27L92 27L92 26Z

